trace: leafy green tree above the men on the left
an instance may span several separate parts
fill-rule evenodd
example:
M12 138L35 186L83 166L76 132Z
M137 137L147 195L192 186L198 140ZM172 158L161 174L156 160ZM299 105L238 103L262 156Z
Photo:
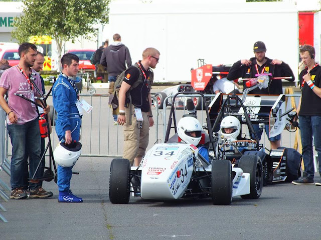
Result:
M93 24L108 23L110 0L22 0L23 13L14 20L11 36L19 42L48 35L57 42L59 62L66 41L90 37Z

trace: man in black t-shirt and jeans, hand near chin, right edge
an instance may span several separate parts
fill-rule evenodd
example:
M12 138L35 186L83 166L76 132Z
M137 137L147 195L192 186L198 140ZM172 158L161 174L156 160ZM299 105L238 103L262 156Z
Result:
M303 45L299 51L305 68L299 75L302 94L296 112L300 118L304 172L292 183L303 185L314 184L312 136L317 151L318 171L321 174L321 66L315 62L313 46ZM321 181L315 182L315 185L321 186Z

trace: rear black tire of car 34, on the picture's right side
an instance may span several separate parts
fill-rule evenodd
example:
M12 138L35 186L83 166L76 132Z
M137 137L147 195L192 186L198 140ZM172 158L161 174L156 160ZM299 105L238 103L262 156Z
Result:
M250 193L241 195L244 199L257 199L263 188L263 167L261 158L257 155L243 155L239 159L238 167L243 172L250 173Z

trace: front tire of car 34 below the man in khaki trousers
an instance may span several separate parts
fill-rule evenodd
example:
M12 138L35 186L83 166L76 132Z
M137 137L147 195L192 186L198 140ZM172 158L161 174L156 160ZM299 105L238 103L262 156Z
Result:
M114 158L110 164L109 199L112 203L126 204L130 194L130 163L128 159Z

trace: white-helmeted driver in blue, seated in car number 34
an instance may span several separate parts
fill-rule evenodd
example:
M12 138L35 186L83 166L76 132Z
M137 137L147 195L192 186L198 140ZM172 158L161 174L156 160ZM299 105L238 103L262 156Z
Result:
M206 146L199 144L202 138L203 127L200 121L193 116L185 116L177 124L179 137L186 143L195 145L199 153L209 162L209 152Z

